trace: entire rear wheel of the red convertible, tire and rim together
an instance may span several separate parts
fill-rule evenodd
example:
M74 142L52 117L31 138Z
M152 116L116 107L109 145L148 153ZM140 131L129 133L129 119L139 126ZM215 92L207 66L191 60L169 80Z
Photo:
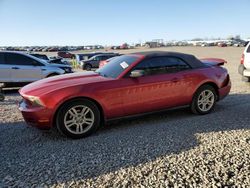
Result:
M210 85L203 85L194 94L191 111L195 114L208 114L213 110L216 100L215 89Z

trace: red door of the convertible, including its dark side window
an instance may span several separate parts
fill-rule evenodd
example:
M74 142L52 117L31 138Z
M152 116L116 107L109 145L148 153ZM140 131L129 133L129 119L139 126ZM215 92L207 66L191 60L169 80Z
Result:
M185 92L185 84L181 72L190 67L171 61L170 57L144 60L131 70L143 70L144 76L131 78L127 75L122 80L125 115L161 110L184 103L181 97Z

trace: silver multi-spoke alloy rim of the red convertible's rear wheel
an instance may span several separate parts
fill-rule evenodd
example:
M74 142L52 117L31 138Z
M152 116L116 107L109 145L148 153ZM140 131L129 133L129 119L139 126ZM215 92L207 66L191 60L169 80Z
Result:
M210 90L204 90L198 97L198 108L202 112L207 112L213 107L214 102L215 102L214 93Z

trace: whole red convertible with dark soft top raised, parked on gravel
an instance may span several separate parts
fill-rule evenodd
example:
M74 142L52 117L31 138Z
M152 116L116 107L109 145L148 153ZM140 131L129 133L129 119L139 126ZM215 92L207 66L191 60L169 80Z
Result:
M189 105L211 112L230 91L221 61L175 52L142 52L117 57L95 72L43 79L20 89L25 121L55 126L71 138L95 132L105 121Z

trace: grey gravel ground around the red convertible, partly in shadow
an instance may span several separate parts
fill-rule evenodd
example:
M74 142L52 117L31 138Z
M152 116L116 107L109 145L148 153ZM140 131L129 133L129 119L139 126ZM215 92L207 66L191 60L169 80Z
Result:
M171 48L226 58L233 88L215 112L172 110L108 124L81 140L26 126L0 103L0 187L250 187L250 84L241 48Z

